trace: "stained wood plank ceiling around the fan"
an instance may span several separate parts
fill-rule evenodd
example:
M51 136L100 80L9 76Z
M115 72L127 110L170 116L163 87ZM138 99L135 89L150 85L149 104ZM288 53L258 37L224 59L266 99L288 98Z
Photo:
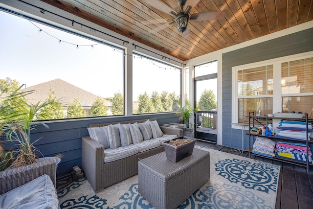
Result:
M42 1L183 61L313 20L313 0L187 0L189 15L220 13L179 33L177 0Z

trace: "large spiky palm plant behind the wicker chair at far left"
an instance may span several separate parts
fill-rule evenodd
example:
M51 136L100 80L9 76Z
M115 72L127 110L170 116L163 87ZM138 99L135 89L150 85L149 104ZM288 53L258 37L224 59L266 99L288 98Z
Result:
M0 94L0 171L36 163L38 156L34 143L39 139L31 142L30 132L37 125L48 128L45 123L34 120L46 118L47 114L41 110L54 102L29 104L25 96L33 91L22 92L22 86L11 94ZM12 147L7 150L5 142L11 142Z

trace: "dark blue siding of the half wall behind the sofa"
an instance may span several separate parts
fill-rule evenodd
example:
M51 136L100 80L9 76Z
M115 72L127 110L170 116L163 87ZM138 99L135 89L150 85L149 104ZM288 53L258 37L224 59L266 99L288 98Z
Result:
M34 143L36 149L40 151L43 156L50 157L61 154L61 162L57 168L57 178L61 178L65 175L69 175L72 171L72 167L81 163L81 149L82 149L82 137L89 136L87 128L89 124L93 123L107 123L137 119L156 118L159 124L177 123L178 117L174 113L166 114L149 114L141 116L117 116L117 117L104 117L104 118L92 118L84 120L61 120L47 122L49 128L45 128L42 125L36 127L36 130L31 134L31 140L37 142ZM12 145L9 143L8 145ZM37 152L39 156L41 153Z

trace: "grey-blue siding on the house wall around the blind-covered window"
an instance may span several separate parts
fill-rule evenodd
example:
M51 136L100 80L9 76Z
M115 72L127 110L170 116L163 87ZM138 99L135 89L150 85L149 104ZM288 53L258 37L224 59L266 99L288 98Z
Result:
M223 145L230 146L231 124L231 68L254 62L284 57L293 54L313 51L313 28L290 35L282 36L253 46L223 54ZM230 111L230 112L229 112ZM242 147L241 130L232 130L232 146ZM248 146L248 137L245 135L245 150Z

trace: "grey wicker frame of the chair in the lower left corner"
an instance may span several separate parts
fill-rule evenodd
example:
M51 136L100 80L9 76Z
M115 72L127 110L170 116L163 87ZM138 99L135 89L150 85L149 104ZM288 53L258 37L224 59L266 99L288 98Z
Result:
M47 174L56 185L57 164L54 159L43 160L38 163L11 168L0 172L0 195L16 187L22 186L39 176Z

